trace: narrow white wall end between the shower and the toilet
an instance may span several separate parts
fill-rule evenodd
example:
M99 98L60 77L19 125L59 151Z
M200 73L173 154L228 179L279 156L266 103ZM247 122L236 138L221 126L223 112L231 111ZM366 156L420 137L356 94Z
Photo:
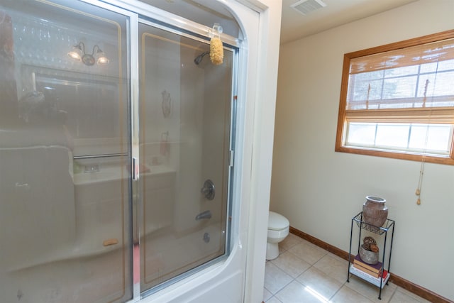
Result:
M257 69L252 70L252 77L248 78L246 84L248 91L254 91L255 94L245 100L246 123L243 141L245 150L250 150L252 157L250 158L250 179L245 177L242 180L243 194L249 194L248 198L244 200L248 203L248 222L247 225L240 226L242 233L247 232L248 234L244 302L255 303L262 302L265 279L282 1L237 1L260 13L258 15L260 18L258 33L260 35L248 37L248 45L257 45L258 53L254 53L255 48L248 50L250 58L257 55ZM243 18L243 22L245 22L245 18ZM249 66L254 66L253 60L248 62L248 68L250 68ZM242 100L238 99L238 101ZM251 130L249 126L252 126ZM250 136L251 134L253 136ZM245 159L245 164L243 174L247 176L247 159ZM248 188L250 188L249 193Z

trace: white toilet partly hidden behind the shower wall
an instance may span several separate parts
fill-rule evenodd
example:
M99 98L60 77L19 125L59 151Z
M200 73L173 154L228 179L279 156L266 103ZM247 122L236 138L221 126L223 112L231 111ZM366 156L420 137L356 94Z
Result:
M267 236L267 260L277 258L279 255L278 243L289 235L290 222L274 211L270 211L268 216L268 236Z

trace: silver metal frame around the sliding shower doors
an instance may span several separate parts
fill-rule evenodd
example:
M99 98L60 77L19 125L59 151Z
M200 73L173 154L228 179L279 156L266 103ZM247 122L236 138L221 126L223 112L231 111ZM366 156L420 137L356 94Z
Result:
M138 228L140 224L140 216L138 216L138 211L140 211L140 195L135 194L139 189L139 153L140 153L140 121L139 121L139 111L140 111L140 96L139 96L139 83L140 83L140 73L139 73L139 23L145 23L156 28L164 29L175 33L177 35L182 35L187 38L194 40L199 40L206 43L209 41L209 31L211 28L207 26L202 26L199 23L194 21L189 21L185 18L177 16L173 13L167 11L162 11L160 9L154 8L148 4L139 2L139 1L123 1L123 0L79 0L99 6L103 9L109 11L115 11L121 13L129 18L128 24L128 75L129 75L129 104L128 108L130 109L129 119L130 119L130 144L129 146L129 159L131 167L133 167L131 180L130 180L130 220L132 225L131 238L133 239L132 243L135 246L138 246L140 250L140 238ZM243 46L242 40L240 38L235 38L231 35L226 35L225 33L221 34L221 40L223 40L224 48L228 48L233 52L233 67L232 67L232 92L231 92L231 126L230 126L230 146L229 146L229 165L228 165L228 193L227 193L227 226L226 226L226 255L230 253L230 250L233 246L231 242L231 217L232 217L232 199L233 199L233 165L235 158L234 150L236 143L236 109L237 109L237 90L238 90L238 63L239 63L239 50ZM221 257L219 257L221 258ZM211 260L209 263L200 265L196 268L196 271L199 271L203 268L209 267L213 263L219 262L219 258ZM140 277L140 255L137 256L133 253L133 260L131 260L133 272L133 277ZM137 302L139 299L146 297L150 293L154 293L162 289L163 287L157 287L156 289L148 290L145 292L140 292L140 278L136 281L133 281L133 299L131 302Z

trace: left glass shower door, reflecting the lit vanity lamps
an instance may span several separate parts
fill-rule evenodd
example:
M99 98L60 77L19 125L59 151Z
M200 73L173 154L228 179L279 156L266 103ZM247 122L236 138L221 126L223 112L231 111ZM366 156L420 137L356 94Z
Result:
M132 298L127 27L0 1L0 302Z

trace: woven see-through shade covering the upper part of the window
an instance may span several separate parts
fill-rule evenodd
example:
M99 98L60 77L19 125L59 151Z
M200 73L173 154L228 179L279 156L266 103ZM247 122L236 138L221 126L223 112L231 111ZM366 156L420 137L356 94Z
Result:
M454 31L345 54L342 103L345 121L454 123Z

